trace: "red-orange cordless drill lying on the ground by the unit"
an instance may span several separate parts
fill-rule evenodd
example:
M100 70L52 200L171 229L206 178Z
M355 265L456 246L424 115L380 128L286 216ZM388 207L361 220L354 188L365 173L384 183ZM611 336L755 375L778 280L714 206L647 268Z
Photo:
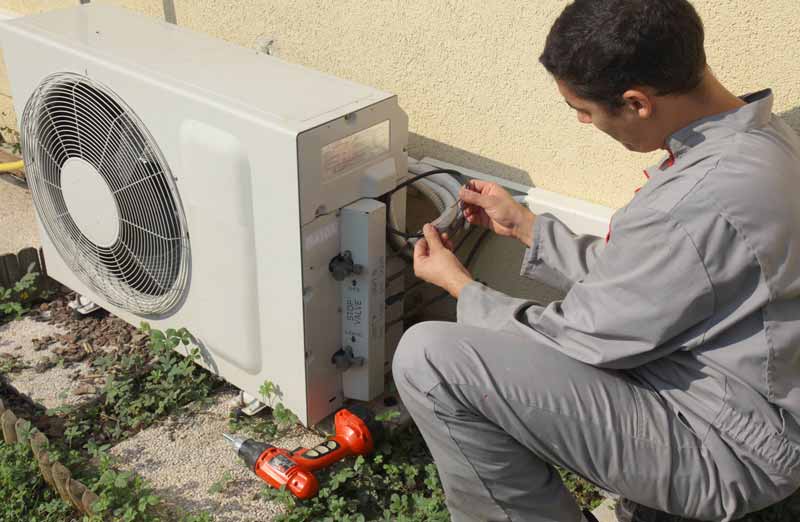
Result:
M335 433L313 448L289 451L253 439L240 439L225 433L225 440L247 466L273 488L286 486L294 496L305 500L319 491L314 471L326 468L350 455L365 455L375 448L381 425L366 408L341 409L334 417Z

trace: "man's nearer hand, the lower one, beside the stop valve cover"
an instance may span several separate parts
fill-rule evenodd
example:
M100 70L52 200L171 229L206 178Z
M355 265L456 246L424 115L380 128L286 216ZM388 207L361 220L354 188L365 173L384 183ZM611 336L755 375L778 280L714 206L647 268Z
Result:
M458 299L472 276L452 252L453 244L447 234L440 235L430 224L422 227L422 233L425 238L414 245L414 275Z

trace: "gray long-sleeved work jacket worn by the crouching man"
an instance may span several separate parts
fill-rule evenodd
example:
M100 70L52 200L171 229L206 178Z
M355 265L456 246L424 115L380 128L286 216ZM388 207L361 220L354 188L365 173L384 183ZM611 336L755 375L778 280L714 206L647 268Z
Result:
M563 300L541 306L470 283L458 321L626 371L720 466L746 458L796 486L800 139L772 114L771 91L744 100L670 137L670 158L646 170L608 239L536 218L522 274Z

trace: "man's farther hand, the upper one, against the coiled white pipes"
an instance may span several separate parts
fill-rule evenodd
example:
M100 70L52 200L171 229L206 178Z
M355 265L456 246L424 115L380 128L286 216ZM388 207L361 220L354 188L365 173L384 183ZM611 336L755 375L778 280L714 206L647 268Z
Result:
M497 183L470 180L462 187L459 198L464 202L464 217L500 236L514 237L531 246L533 220L536 216L524 205L514 201Z

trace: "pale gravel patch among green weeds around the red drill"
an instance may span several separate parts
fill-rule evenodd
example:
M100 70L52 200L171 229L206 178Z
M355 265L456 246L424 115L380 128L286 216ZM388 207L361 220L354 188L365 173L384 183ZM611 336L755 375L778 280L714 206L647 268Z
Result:
M237 397L226 391L213 398L202 411L172 417L139 432L111 449L122 467L132 469L155 487L156 494L189 512L209 511L218 522L263 522L272 520L279 508L262 500L264 484L222 438L229 431L228 415ZM322 440L302 428L270 441L294 449ZM231 481L219 493L209 489L225 474Z

